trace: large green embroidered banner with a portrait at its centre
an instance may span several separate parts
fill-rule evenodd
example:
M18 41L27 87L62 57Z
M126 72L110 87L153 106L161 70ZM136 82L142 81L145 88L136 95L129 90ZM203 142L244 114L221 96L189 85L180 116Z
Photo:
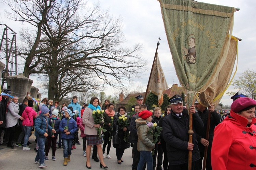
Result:
M159 0L177 77L191 105L226 61L236 8L190 0Z

